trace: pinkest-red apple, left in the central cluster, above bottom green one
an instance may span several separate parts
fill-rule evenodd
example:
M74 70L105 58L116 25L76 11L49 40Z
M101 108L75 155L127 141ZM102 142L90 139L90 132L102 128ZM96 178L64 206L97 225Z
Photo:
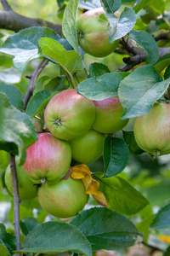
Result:
M26 149L23 169L33 183L55 183L65 176L71 165L71 146L50 133L42 133L38 141Z

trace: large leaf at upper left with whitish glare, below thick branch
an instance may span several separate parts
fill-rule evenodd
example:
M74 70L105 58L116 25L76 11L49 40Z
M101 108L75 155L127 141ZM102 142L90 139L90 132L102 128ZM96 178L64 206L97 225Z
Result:
M60 38L53 29L45 26L31 26L9 37L3 44L3 48L0 49L0 52L14 55L14 67L20 73L23 73L28 62L39 57L38 40L44 37L59 40L61 44L65 45L66 49L71 49L66 40Z

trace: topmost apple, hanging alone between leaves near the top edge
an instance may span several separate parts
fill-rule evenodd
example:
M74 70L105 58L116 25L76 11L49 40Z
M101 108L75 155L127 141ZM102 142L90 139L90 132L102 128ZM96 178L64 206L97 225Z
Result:
M105 14L103 8L91 9L77 20L78 43L89 55L95 57L110 55L120 41L110 43L107 32L109 22L100 17L102 14Z

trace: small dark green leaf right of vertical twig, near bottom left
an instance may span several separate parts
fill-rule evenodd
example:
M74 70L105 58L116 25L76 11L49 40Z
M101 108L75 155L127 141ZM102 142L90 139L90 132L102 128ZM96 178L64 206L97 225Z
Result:
M28 217L20 221L20 228L25 236L27 236L37 225L39 225L39 221L36 218Z

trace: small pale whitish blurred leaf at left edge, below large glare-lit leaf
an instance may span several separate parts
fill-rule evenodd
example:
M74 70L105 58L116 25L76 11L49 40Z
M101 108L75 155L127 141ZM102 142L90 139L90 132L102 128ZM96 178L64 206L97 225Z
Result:
M8 84L20 83L21 74L14 68L10 67L0 71L0 81Z

